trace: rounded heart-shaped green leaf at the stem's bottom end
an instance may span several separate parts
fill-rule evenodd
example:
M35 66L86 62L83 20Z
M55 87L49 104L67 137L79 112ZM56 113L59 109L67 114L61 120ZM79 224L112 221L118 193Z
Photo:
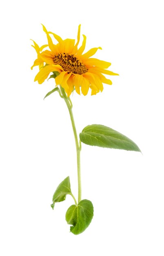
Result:
M70 225L70 231L78 235L91 223L93 218L93 204L89 200L82 200L78 205L71 205L66 211L66 222Z

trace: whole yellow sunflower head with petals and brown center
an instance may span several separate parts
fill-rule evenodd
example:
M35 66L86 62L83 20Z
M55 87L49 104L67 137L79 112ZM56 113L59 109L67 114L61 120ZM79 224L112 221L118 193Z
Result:
M58 76L55 77L56 86L61 85L68 97L74 89L80 94L81 88L82 94L86 95L89 88L91 88L91 95L93 95L100 91L102 92L102 83L112 84L111 80L106 79L103 75L117 75L116 73L106 70L111 63L101 61L97 58L90 58L98 49L102 48L92 48L83 54L86 45L86 36L83 35L82 45L78 49L80 25L78 27L78 40L76 44L74 39L62 40L60 36L48 32L44 26L43 31L47 35L48 45L39 47L34 41L34 45L32 45L38 54L38 58L34 61L31 69L37 65L40 68L34 81L38 81L38 83L41 84L47 79L51 72L55 72L58 74ZM53 44L50 35L58 41L56 45ZM47 46L49 50L42 51Z

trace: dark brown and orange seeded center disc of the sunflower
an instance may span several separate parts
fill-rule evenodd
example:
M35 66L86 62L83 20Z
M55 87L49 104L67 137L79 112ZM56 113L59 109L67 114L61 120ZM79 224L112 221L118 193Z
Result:
M64 71L74 74L84 74L88 71L87 67L74 54L59 53L53 58L55 64L60 65Z

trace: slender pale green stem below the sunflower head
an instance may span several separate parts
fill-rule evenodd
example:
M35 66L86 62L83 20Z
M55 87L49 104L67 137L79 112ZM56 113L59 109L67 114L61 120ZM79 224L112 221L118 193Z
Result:
M77 167L78 167L78 202L81 201L82 198L82 186L81 186L81 173L80 173L80 151L81 151L81 144L78 141L78 135L76 132L76 127L75 127L75 121L73 118L73 112L72 112L72 102L69 97L66 96L65 90L60 86L60 90L62 92L63 99L66 103L66 106L69 110L69 115L71 118L71 123L72 123L72 128L73 128L73 134L75 137L75 144L76 144L76 155L77 155Z

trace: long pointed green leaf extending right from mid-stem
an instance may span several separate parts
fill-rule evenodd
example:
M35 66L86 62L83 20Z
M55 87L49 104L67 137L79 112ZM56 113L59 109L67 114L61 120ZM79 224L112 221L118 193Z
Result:
M141 152L140 148L131 139L101 124L86 126L80 133L80 140L90 146Z

